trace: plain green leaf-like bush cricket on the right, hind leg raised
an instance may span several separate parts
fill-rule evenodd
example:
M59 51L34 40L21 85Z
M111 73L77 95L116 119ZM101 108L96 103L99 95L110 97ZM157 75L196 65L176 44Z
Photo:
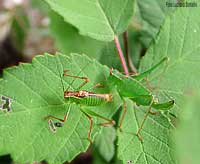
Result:
M174 100L170 100L164 103L156 102L150 90L144 87L143 84L140 82L140 80L144 79L147 75L149 75L152 71L154 71L158 66L160 66L165 61L168 61L167 57L163 58L158 64L154 65L149 70L137 76L127 77L116 70L110 71L110 76L108 78L109 84L112 87L115 87L117 89L121 99L124 102L124 111L122 113L122 118L119 124L120 129L122 127L122 122L124 120L125 113L126 113L126 102L124 98L129 98L130 100L135 102L137 105L149 106L149 110L146 113L144 120L142 121L136 133L136 135L139 137L141 141L142 141L142 137L140 135L140 131L142 130L142 127L144 126L144 122L147 119L148 113L155 114L154 112L152 112L152 108L157 109L157 110L169 110L174 105Z

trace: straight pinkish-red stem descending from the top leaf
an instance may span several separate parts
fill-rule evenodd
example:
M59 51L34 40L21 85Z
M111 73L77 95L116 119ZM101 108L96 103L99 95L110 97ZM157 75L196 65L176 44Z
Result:
M115 41L115 46L117 48L117 52L118 52L122 67L124 69L124 73L125 73L125 75L129 75L128 68L127 68L127 65L126 65L126 61L125 61L125 58L124 58L124 54L122 52L122 49L121 49L121 46L120 46L120 43L119 43L118 36L115 36L114 41Z

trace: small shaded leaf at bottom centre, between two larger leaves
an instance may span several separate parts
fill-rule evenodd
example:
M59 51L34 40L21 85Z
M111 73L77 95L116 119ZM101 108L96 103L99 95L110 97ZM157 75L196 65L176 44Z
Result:
M115 154L115 139L115 129L113 127L105 127L95 140L96 149L99 150L99 153L107 162L109 162Z

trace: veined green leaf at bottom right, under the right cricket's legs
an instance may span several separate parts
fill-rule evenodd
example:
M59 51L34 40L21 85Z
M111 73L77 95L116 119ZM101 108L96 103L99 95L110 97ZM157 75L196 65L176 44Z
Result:
M147 108L136 107L130 100L126 103L122 131L118 131L118 158L124 164L130 161L134 164L175 164L175 151L170 139L172 125L169 120L162 114L149 115L141 131L141 142L136 133Z

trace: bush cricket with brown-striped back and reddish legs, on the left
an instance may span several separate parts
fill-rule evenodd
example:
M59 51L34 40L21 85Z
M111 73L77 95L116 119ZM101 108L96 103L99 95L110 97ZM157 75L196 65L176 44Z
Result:
M68 71L65 70L63 73L63 76L74 78L74 80L77 78L82 79L84 82L75 91L71 91L71 90L69 90L69 87L70 87L70 85L72 85L74 80L72 80L72 82L69 84L69 86L66 90L64 90L64 85L61 80L61 83L63 86L63 91L64 91L64 99L65 99L66 103L76 103L81 106L100 106L104 103L108 103L108 102L112 101L112 94L107 94L107 93L102 94L102 93L95 93L95 92L90 92L90 91L86 91L86 90L81 90L81 88L89 82L89 79L87 77L69 75L67 72ZM100 87L100 86L101 86L101 84L96 84L95 86L93 86L93 88ZM84 110L82 108L80 108L80 109L81 109L81 112L83 112L87 116L87 118L90 120L90 130L88 132L88 140L90 141L90 143L92 143L92 140L91 140L91 132L92 132L92 127L93 127L92 116L99 117L101 119L106 120L106 122L100 123L101 126L115 124L114 120L111 120L104 116L101 116L91 110ZM67 120L69 113L70 113L70 108L68 109L68 111L65 114L63 119L57 118L52 115L45 117L45 119L53 118L53 119L59 120L64 123ZM56 127L63 126L63 124L61 122L54 123L51 119L49 119L48 123L49 123L50 130L53 133L55 133Z

